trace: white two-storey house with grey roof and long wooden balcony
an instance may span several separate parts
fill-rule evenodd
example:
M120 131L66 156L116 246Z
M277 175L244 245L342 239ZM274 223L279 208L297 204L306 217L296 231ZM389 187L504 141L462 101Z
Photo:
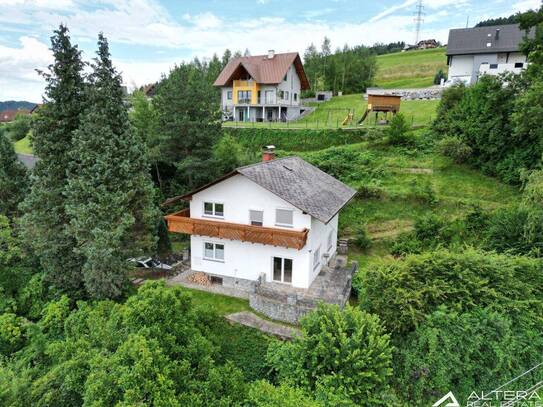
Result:
M190 209L166 216L189 233L191 268L217 284L256 281L307 289L336 253L338 214L355 190L299 157L240 167L189 194Z

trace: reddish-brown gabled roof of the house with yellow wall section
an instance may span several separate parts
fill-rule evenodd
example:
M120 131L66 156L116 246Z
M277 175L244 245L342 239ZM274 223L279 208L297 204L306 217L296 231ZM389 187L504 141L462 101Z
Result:
M309 80L304 71L300 55L297 52L275 54L273 58L267 55L234 58L224 67L214 86L231 85L234 74L246 70L251 77L263 85L275 85L283 81L290 66L294 64L300 78L302 90L309 89Z

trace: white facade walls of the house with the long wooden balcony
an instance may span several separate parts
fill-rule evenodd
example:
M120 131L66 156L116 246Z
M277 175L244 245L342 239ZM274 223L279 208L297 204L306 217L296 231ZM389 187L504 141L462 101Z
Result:
M222 203L224 217L220 219L206 217L204 202ZM193 235L191 236L192 269L247 280L257 280L261 274L264 274L266 281L273 281L273 257L282 257L293 261L292 285L308 288L325 262L323 255L325 253L332 255L336 251L337 215L325 225L242 175L235 175L194 194L190 202L192 218L248 225L250 224L249 210L259 210L264 212L264 227L281 228L275 225L276 209L293 211L293 227L284 229L310 229L307 244L301 250ZM332 249L328 247L330 231L333 233ZM224 244L223 262L204 258L205 242ZM313 267L313 253L318 247L320 247L320 264L318 267Z

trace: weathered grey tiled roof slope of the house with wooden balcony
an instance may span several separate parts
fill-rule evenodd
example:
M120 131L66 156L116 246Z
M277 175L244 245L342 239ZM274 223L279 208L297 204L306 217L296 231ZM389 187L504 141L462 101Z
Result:
M300 157L252 164L236 172L324 223L356 194L354 189Z

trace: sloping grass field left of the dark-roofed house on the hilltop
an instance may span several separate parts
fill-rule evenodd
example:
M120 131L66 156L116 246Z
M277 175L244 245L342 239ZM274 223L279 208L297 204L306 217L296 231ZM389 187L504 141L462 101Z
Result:
M436 72L447 72L445 48L397 52L377 57L376 85L382 88L426 88Z

